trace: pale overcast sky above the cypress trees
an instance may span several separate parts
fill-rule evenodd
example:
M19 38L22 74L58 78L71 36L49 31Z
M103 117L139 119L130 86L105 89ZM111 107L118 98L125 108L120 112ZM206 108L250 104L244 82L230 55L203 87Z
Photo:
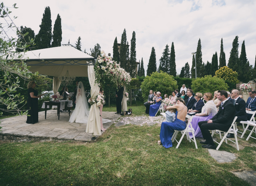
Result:
M136 33L136 58L143 57L145 74L152 47L155 48L157 68L166 44L174 43L176 70L180 74L186 62L192 65L191 52L197 50L201 39L203 62L211 62L217 51L220 56L223 38L226 62L235 36L245 40L247 58L254 66L256 55L255 0L4 0L11 7L15 24L39 32L45 7L51 9L52 30L57 14L61 16L62 44L75 45L81 37L82 50L90 52L96 43L113 56L115 37L118 43L126 29L127 41Z

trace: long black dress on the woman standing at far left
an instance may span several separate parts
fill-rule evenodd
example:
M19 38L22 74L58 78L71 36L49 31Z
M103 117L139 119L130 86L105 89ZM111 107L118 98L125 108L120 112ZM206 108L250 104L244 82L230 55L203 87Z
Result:
M38 98L31 98L30 92L34 92L34 95L38 95L38 91L34 88L28 89L28 115L27 122L29 124L34 124L38 122Z

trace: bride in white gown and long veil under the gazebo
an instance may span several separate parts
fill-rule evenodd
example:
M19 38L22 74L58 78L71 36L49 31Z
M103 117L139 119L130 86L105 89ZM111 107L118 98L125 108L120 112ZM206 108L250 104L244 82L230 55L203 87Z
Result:
M84 85L81 81L78 82L77 86L77 93L76 93L76 105L75 110L73 111L72 115L70 116L69 122L70 123L87 123L88 116L90 112L90 108L88 105L88 101L85 97ZM108 119L102 119L102 123L111 122Z

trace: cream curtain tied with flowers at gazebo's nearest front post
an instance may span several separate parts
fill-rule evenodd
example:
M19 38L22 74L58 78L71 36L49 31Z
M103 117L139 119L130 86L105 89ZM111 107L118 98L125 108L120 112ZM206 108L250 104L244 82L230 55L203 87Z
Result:
M95 84L95 72L93 66L88 66L88 79L91 86L91 98L94 99L99 94L99 86ZM99 107L96 104L91 105L86 132L94 136L101 135L101 120L99 116Z

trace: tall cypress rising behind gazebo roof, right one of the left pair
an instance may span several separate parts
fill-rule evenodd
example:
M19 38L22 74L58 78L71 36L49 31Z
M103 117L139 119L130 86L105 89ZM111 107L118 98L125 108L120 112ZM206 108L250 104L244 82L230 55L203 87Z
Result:
M53 26L53 35L52 35L52 47L61 46L62 41L62 29L61 29L61 17L57 16L54 26Z

